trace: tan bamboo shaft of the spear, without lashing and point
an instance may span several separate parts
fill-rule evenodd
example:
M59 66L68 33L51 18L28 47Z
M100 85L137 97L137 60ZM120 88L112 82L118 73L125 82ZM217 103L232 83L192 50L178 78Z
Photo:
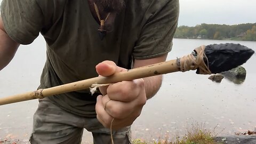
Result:
M15 103L15 102L49 97L55 94L84 90L91 87L92 84L109 84L109 83L117 83L121 81L131 81L133 79L173 73L176 71L180 71L180 69L177 66L177 60L170 60L170 61L165 61L161 63L156 63L154 65L122 71L120 73L117 73L109 77L94 77L94 78L85 79L82 81L50 87L48 89L12 95L10 97L1 98L0 106L10 104L10 103Z

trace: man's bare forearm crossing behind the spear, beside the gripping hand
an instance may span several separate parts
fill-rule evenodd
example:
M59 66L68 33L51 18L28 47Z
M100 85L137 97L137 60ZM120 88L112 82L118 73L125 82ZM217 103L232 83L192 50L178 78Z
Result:
M137 68L137 67L143 67L143 66L151 65L158 62L163 62L166 60L166 58L167 58L167 54L164 54L160 57L153 58L153 59L135 60L133 67ZM157 91L159 90L162 84L162 78L163 78L162 75L143 78L145 82L147 99L152 98L157 93Z

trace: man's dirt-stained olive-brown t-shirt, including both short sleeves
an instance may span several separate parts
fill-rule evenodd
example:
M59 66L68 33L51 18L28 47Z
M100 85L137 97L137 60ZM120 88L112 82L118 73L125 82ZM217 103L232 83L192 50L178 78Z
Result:
M47 59L39 89L97 77L95 66L104 60L131 68L133 59L150 59L171 51L178 23L178 0L126 0L114 30L101 41L99 25L87 0L3 0L6 33L30 44L41 33ZM43 49L43 47L42 47ZM89 90L49 97L71 113L95 117L95 97Z

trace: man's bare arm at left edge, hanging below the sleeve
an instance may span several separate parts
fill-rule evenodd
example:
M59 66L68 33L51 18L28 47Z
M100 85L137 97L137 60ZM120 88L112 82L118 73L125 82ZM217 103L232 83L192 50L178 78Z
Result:
M14 42L5 32L3 20L0 15L0 70L2 70L14 57L20 44Z

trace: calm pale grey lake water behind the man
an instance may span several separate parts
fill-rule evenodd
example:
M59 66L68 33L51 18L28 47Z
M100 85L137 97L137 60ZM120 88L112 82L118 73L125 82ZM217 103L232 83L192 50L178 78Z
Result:
M174 39L168 60L187 55L200 45L240 43L256 51L256 42ZM0 98L33 91L45 61L42 36L33 44L20 46L11 63L0 71ZM219 135L246 132L256 127L256 68L255 54L243 67L247 71L242 84L224 78L221 83L197 75L195 71L164 75L161 89L147 101L142 114L132 125L132 138L174 138L186 133L188 125L203 124L209 130L216 127ZM27 141L33 124L37 100L0 106L0 138ZM92 143L92 136L84 132L83 143ZM0 140L1 140L0 139Z

